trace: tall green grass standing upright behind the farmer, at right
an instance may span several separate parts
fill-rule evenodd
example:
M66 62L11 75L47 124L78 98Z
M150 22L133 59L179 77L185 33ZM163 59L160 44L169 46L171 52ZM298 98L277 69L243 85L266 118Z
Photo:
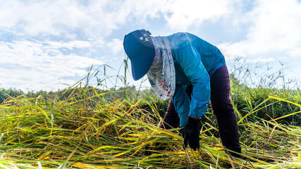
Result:
M295 113L300 106L292 104L301 104L300 83L286 77L287 63L280 62L278 67L235 58L229 66L233 104L250 122L278 119L278 123L300 126L300 113Z

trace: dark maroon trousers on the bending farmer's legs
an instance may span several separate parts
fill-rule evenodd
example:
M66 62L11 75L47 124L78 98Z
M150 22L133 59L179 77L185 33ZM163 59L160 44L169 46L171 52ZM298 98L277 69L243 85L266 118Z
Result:
M211 86L211 106L216 115L216 120L219 126L219 134L223 146L227 149L240 153L238 122L234 113L233 105L230 98L230 80L226 65L215 71L210 77ZM188 96L192 93L192 85L186 89ZM166 114L164 116L164 126L161 128L169 129L178 127L180 118L173 106L173 101L169 101ZM171 126L171 127L170 127Z

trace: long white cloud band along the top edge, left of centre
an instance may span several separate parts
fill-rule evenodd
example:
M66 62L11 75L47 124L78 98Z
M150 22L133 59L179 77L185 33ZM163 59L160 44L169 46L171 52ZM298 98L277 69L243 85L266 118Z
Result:
M130 18L143 21L164 9L161 1L4 1L0 28L24 36L106 37ZM160 2L160 3L159 3ZM142 5L143 4L143 5ZM164 4L164 3L163 3Z

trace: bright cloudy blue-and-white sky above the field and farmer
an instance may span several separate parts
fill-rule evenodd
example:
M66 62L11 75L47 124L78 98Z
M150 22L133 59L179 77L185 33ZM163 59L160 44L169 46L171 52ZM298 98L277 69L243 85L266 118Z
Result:
M227 63L288 63L286 76L301 78L300 0L0 0L0 88L65 89L92 65L104 73L104 64L116 79L124 75L123 37L138 29L190 32ZM149 85L146 77L134 82L130 68L126 78Z

